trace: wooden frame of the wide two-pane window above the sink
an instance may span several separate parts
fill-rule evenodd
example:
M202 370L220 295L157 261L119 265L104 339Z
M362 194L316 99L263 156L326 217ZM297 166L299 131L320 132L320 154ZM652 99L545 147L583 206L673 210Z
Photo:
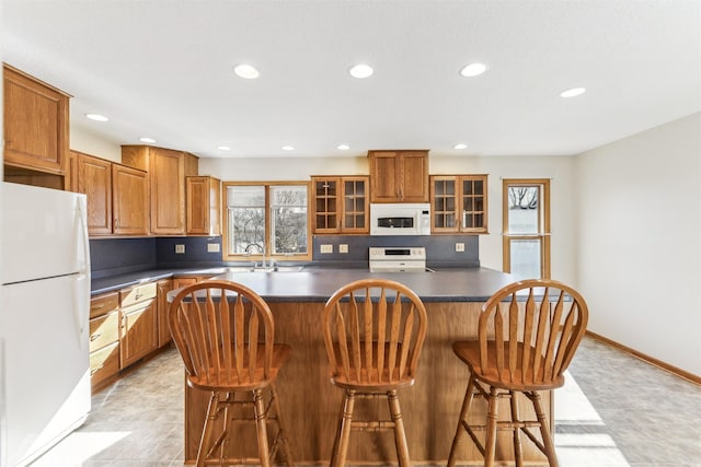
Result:
M265 233L264 233L264 242L265 242L265 250L266 256L263 258L262 253L256 254L230 254L229 253L229 203L228 203L228 194L229 187L233 186L262 186L265 189ZM294 254L294 255L273 255L269 250L271 245L273 245L272 235L274 234L272 231L272 212L271 212L271 187L274 186L303 186L307 188L307 253L306 254ZM222 232L221 232L221 242L222 242L222 253L221 259L223 261L261 261L263 259L275 259L275 260L311 260L312 258L312 234L311 234L311 183L304 180L279 180L279 182L222 182L221 189L221 207L222 207Z

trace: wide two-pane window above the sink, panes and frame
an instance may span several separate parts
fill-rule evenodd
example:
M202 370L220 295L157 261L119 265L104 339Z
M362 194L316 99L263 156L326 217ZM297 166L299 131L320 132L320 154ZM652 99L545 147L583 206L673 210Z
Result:
M309 259L309 185L226 182L225 260Z

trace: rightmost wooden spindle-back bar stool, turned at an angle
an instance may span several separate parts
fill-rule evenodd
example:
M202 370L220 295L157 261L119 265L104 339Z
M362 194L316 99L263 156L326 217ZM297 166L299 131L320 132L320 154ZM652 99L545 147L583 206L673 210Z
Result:
M482 307L478 340L453 342L452 349L470 369L458 428L450 447L448 467L455 467L459 445L469 435L494 465L497 430L512 430L516 466L524 465L521 432L558 466L549 421L540 401L540 390L564 384L564 371L587 327L587 304L572 288L553 280L525 280L506 285ZM522 420L518 394L533 406L536 420ZM470 424L468 416L474 397L489 401L485 424ZM499 421L498 399L510 402L510 420ZM530 428L540 429L540 439ZM476 431L485 431L484 444Z

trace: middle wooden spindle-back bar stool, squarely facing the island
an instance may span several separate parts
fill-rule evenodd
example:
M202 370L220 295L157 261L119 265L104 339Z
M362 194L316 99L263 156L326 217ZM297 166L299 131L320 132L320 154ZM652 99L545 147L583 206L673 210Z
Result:
M346 463L350 430L392 430L401 467L409 467L398 389L414 384L426 337L426 308L405 285L364 279L338 289L326 302L323 334L331 383L343 389L331 466ZM391 420L355 420L356 398L387 397Z

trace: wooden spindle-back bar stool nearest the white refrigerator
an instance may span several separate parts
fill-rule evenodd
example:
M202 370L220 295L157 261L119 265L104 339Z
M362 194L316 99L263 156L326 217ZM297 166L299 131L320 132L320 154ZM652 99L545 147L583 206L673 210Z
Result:
M274 343L275 324L263 299L234 282L199 282L175 295L169 310L169 324L185 363L187 384L211 393L197 466L260 464L269 467L281 445L287 466L291 467L292 455L275 387L277 373L290 355L290 347ZM237 395L243 397L237 399ZM237 441L230 440L233 424L241 421L255 422L257 458L229 455L228 444ZM272 446L268 422L277 425ZM221 432L215 437L217 427Z

